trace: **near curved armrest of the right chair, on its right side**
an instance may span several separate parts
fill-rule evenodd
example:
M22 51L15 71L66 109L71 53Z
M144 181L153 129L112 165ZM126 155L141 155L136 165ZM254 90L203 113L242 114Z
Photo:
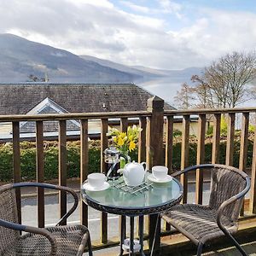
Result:
M224 233L227 232L227 230L224 227L224 224L221 223L221 215L224 211L224 208L227 207L228 205L230 205L231 203L233 203L236 200L241 199L241 197L244 197L247 192L249 191L249 189L251 188L251 179L250 177L246 177L246 186L245 188L238 194L231 196L228 200L224 201L219 207L218 207L218 211L217 211L217 215L216 215L216 221L218 224L218 227L220 230L223 230Z

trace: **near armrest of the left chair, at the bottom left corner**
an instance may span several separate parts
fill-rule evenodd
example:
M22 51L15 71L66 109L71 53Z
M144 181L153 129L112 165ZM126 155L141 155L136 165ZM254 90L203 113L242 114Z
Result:
M51 246L51 251L49 255L56 255L57 253L57 242L55 240L55 237L51 235L51 233L48 230L36 228L36 227L31 227L31 226L26 226L26 225L21 225L21 224L15 224L6 220L3 220L0 218L0 226L3 226L5 228L11 229L11 230L19 230L19 231L25 231L29 232L32 234L38 234L41 236L45 236Z

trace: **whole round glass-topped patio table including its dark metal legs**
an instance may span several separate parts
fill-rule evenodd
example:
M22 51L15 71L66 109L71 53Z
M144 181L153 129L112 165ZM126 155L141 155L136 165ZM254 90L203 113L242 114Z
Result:
M155 183L148 179L150 172L146 173L145 183L136 188L124 185L122 177L109 182L110 187L102 191L89 191L81 188L83 201L90 207L101 212L119 214L121 218L120 253L123 255L125 244L125 216L130 217L130 255L134 255L134 218L139 216L139 251L143 252L143 216L165 211L181 201L183 187L176 178L166 183ZM86 181L85 181L86 183Z

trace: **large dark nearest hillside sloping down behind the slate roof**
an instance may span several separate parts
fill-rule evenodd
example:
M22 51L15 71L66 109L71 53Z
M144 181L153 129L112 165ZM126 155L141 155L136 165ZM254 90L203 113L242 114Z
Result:
M33 74L50 82L128 83L141 76L87 61L67 50L0 34L0 83L26 82Z

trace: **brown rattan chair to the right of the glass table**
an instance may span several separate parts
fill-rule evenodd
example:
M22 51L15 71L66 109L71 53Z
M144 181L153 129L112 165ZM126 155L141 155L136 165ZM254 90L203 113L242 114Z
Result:
M196 169L202 169L203 172L208 169L211 172L209 204L177 205L162 213L161 218L197 245L198 256L208 241L221 236L229 237L241 254L247 255L232 235L238 229L237 220L242 200L250 189L250 178L234 167L212 164L191 166L172 176L177 177Z

